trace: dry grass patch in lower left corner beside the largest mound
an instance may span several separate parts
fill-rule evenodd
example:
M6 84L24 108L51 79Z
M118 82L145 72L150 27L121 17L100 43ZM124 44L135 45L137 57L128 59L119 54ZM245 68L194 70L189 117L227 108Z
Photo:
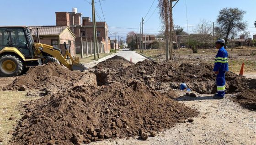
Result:
M3 140L0 144L8 145L8 140L11 139L11 135L7 134L8 131L13 131L18 123L17 121L22 117L22 106L20 103L38 98L26 97L26 93L0 91L0 139ZM8 120L11 116L15 119Z

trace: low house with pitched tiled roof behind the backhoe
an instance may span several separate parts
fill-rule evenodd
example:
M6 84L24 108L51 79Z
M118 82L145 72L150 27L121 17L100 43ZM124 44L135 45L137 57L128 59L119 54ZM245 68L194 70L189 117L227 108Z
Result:
M75 56L75 36L68 26L29 26L32 29L32 36L37 41L36 31L40 37L40 43L60 48L62 54L65 54L64 42L69 44L71 56Z

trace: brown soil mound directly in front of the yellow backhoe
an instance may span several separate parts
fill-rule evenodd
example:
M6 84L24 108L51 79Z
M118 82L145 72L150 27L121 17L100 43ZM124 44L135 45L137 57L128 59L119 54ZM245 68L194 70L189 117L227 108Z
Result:
M70 71L59 64L52 63L31 68L27 74L17 77L4 89L18 90L22 87L27 90L41 89L47 90L46 92L57 92L83 84L97 85L95 74Z

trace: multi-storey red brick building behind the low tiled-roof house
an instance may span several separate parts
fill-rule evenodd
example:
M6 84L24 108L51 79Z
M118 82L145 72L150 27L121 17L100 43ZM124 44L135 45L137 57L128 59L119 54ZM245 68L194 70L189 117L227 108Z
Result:
M82 13L78 13L76 8L72 12L55 12L56 25L68 26L75 35L75 51L80 53L83 41L83 49L85 49L85 41L93 42L93 23L90 17L81 17ZM108 27L106 22L96 22L97 39L100 43L99 52L110 52L110 41L108 40ZM84 51L85 52L85 51Z

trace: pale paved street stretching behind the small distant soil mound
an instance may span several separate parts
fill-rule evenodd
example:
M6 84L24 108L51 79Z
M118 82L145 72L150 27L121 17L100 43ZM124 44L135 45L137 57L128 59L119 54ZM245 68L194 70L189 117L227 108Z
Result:
M86 63L86 64L83 64L83 65L87 68L91 68L91 67L96 66L99 62L103 62L108 58L114 57L115 55L120 56L120 57L124 57L128 61L130 61L130 59L132 57L132 62L133 63L141 62L141 61L144 61L145 59L147 59L146 57L143 57L142 55L140 55L140 54L138 54L134 51L131 51L130 49L123 49L122 51L120 51L116 54L112 54L112 55L109 55L107 57L103 57L103 58L99 59L98 61Z

